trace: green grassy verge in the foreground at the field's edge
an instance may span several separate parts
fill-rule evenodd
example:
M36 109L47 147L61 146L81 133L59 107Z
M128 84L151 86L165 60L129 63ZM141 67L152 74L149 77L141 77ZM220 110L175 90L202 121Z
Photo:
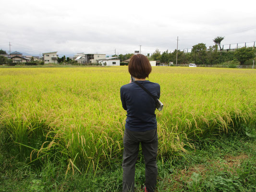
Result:
M158 161L157 192L254 192L256 141L245 135L222 135L194 143L182 156ZM31 168L0 153L0 188L5 192L122 192L122 163L111 168L77 170L65 175L65 162L46 161ZM136 165L135 191L145 181L142 154Z

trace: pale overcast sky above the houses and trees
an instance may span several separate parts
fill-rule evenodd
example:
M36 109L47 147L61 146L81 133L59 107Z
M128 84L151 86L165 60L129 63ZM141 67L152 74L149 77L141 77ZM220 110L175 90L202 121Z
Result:
M5 0L0 49L107 55L256 41L256 0Z

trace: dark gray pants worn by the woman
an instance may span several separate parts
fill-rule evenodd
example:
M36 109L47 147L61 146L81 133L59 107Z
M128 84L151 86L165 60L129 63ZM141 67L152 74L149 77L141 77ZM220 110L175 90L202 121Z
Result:
M123 135L122 158L122 191L134 192L135 163L139 152L139 143L142 146L146 166L146 189L154 192L157 184L158 167L158 133L157 129L146 132L134 132L125 129Z

